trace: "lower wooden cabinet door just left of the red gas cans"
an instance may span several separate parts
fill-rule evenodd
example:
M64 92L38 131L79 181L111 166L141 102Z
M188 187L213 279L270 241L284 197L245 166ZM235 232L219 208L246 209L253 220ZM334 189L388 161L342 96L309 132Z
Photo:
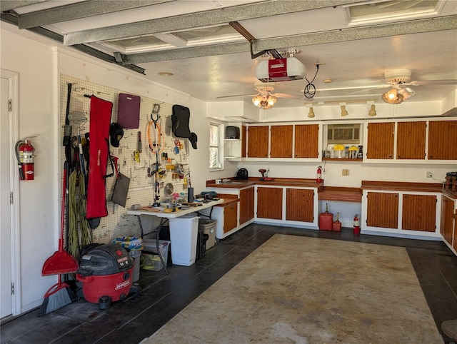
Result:
M286 220L314 221L314 191L309 189L286 189Z

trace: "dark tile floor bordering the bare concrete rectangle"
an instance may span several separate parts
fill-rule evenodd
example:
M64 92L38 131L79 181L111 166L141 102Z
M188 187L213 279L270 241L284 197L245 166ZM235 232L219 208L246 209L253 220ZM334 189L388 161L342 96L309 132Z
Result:
M41 318L33 310L4 323L1 343L139 343L275 233L403 246L437 327L443 320L457 318L457 258L440 241L353 236L344 228L336 233L252 224L220 241L194 265L169 266L168 276L163 270L141 270L141 292L108 310L81 299Z

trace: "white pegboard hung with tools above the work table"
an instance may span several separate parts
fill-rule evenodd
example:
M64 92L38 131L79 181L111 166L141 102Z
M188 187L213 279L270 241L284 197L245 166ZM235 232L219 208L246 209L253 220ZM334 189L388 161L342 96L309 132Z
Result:
M72 136L76 136L79 131L83 141L85 133L89 133L91 95L113 103L111 123L116 123L119 93L131 94L129 90L120 90L62 74L61 123L65 123L67 86L69 83L72 84L69 106ZM111 202L116 177L106 178L106 207L109 215L101 218L99 226L92 230L92 241L94 243L109 243L113 238L119 236L140 236L141 233L136 216L127 215L127 209L134 204L149 206L154 203L156 195L159 197L160 202L169 201L169 198L164 195L164 186L167 183L173 184L174 193L179 193L181 198L186 199L187 188L190 183L188 153L190 143L187 138L176 138L171 132L172 106L173 104L141 96L139 128L124 128L124 136L121 138L119 147L110 145L111 156L118 158L119 172L130 178L129 193L127 195L126 208ZM154 127L154 122L151 121L153 118L157 120L156 124L161 131L163 151L160 151L159 154L151 152L149 148L148 128L150 142L154 144L154 141L158 140L158 131ZM81 121L81 119L85 120ZM139 132L141 132L141 153L135 154L135 151L138 150ZM63 138L64 126L62 126L61 135ZM170 158L170 162L162 156L162 153L165 153ZM65 152L64 147L62 147L62 169L64 168L64 161ZM176 165L179 165L179 170L175 169ZM157 166L161 171L160 174L154 173L154 171L157 171ZM106 171L111 173L111 167L107 166ZM155 188L156 180L159 182L157 190ZM159 218L156 218L156 216L144 216L141 219L144 234L153 231L159 225L159 222Z

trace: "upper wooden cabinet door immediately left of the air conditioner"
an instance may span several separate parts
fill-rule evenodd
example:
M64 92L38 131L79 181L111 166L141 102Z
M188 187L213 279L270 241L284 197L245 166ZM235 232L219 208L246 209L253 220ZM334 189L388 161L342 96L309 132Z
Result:
M299 124L295 126L295 157L318 158L319 125Z

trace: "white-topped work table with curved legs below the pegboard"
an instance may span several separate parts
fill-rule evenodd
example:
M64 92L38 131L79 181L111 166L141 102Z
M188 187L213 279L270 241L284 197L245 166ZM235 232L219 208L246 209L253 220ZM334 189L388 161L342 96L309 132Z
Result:
M162 225L164 222L168 219L169 221L173 221L174 218L179 218L181 216L190 214L190 213L198 213L199 211L206 209L206 208L212 208L213 206L216 206L217 204L224 203L223 199L219 199L218 201L208 201L207 203L201 202L201 206L189 206L188 209L177 209L176 211L173 211L171 213L165 213L164 211L156 211L156 209L151 207L151 210L143 210L139 209L136 211L129 210L127 211L127 214L129 215L134 215L138 219L138 223L140 226L141 230L141 238L143 238L143 225L141 224L141 215L146 215L146 216L157 216L158 218L161 218L159 226L156 228L156 249L157 253L159 254L159 258L161 260L162 266L164 266L164 271L166 275L168 275L168 271L166 270L166 266L164 263L164 258L162 257L159 249L159 233L161 231ZM212 210L212 209L211 209ZM210 213L211 217L211 213Z

